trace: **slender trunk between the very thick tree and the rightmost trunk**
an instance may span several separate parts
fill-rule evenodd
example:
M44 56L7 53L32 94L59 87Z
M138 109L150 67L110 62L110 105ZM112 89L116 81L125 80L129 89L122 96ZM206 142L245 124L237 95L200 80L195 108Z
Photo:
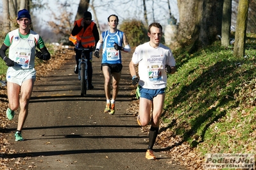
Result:
M228 45L230 45L231 15L232 0L224 0L221 26L221 45L224 47L228 47Z

